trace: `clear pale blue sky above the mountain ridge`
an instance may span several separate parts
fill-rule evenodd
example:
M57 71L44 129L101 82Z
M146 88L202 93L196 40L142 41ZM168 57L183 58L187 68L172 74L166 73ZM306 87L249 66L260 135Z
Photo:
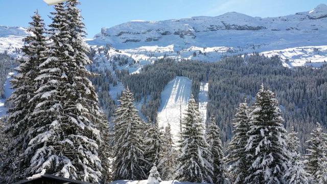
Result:
M218 16L236 11L250 16L273 17L309 11L327 0L80 0L88 37L102 27L129 20L165 20L192 16ZM0 25L27 27L38 9L49 23L52 7L42 0L0 0Z

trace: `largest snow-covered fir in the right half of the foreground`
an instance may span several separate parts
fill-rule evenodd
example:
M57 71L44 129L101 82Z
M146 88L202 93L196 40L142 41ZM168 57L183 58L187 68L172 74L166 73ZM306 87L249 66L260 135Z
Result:
M246 145L248 183L283 183L287 169L287 134L275 94L261 86L250 116Z

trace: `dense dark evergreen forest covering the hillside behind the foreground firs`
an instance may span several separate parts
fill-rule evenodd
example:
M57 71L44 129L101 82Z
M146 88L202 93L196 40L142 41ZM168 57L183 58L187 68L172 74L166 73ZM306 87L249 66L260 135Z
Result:
M223 130L223 142L230 140L233 114L244 98L251 104L262 83L277 94L287 129L294 125L301 143L319 122L327 122L327 66L287 68L278 57L252 54L246 57L233 56L219 62L200 61L174 62L161 59L147 65L139 74L116 70L116 75L134 93L136 101L146 105L142 112L155 121L155 112L160 104L160 93L175 76L192 79L192 93L197 99L200 82L209 82L207 116L217 117ZM150 98L150 100L146 100ZM302 148L302 151L305 149Z

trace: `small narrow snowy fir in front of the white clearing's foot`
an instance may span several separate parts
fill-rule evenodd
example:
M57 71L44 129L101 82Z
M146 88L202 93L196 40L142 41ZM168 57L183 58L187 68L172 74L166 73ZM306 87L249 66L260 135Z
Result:
M174 179L177 162L177 150L174 147L173 135L171 133L171 126L165 128L161 135L161 150L159 156L158 168L161 172L161 178L164 180Z

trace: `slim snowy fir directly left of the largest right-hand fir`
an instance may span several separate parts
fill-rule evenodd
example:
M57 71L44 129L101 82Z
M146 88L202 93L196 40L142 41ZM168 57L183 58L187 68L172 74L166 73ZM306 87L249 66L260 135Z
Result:
M226 164L230 165L230 175L233 183L244 183L248 169L245 146L249 131L247 103L241 103L233 119L233 136L227 147Z

